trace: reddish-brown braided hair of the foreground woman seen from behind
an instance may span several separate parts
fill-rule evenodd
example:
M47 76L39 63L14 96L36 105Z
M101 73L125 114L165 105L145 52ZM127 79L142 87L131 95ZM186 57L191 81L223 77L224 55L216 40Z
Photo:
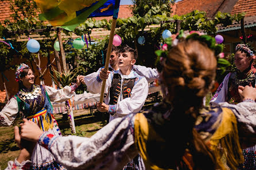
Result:
M166 99L173 106L168 129L175 131L168 131L167 140L170 154L175 155L170 157L179 163L189 149L195 169L220 168L214 153L194 129L203 98L214 84L216 65L215 54L207 44L185 39L170 49L161 72L161 83L168 91Z

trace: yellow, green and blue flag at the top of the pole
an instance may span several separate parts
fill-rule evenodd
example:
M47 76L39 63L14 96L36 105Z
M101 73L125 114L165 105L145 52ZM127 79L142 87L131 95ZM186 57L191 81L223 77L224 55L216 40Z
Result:
M72 31L90 17L113 15L117 19L120 0L35 0L41 9L39 19Z

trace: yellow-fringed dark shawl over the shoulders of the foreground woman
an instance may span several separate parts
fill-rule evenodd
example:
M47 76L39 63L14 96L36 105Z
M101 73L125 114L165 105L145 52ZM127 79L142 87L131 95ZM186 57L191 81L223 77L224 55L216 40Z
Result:
M214 152L214 155L216 155L218 164L221 167L225 167L226 164L220 160L223 156L223 151L226 151L228 153L228 166L231 169L236 169L235 167L238 167L238 164L243 163L243 155L239 143L235 114L230 108L210 106L201 109L199 114L195 123L195 129L211 151ZM170 110L169 104L162 101L160 104L155 105L152 110L137 113L134 117L135 146L138 148L139 153L141 153L146 169L162 170L161 165L168 164L164 159L161 159L161 154L159 154L160 157L150 156L152 153L157 153L155 149L152 151L152 148L148 147L148 145L154 143L154 145L161 145L160 152L169 151L169 145L164 145L164 143L168 140L166 125L170 123L170 115L172 115L172 110ZM235 142L231 144L230 139L234 139ZM185 165L187 169L191 169L193 167L193 162L191 162L193 155L189 147L186 151L188 153L184 153L180 163L168 168ZM162 155L164 154L162 153Z

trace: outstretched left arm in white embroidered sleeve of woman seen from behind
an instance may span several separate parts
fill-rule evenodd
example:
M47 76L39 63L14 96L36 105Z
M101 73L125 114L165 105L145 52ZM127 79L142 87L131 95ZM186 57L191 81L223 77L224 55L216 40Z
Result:
M42 133L36 124L27 121L21 128L21 137L38 140L67 169L119 170L138 155L134 144L132 118L116 118L90 138Z

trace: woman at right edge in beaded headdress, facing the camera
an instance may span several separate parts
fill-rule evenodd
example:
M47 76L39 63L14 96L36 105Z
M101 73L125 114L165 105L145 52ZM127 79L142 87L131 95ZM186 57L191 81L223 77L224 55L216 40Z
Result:
M235 72L228 73L220 84L210 104L216 105L219 102L227 101L231 104L237 104L242 101L238 93L238 86L253 86L256 84L256 69L253 60L256 58L249 45L238 44L235 48ZM254 147L243 150L245 162L239 169L256 169L256 149Z

